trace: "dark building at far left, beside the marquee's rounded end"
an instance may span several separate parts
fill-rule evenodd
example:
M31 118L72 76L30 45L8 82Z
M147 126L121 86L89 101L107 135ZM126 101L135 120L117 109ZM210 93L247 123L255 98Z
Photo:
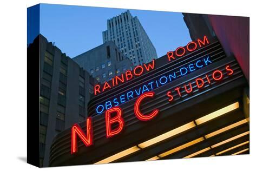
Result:
M40 166L49 166L50 146L62 130L87 118L94 79L45 37L38 35L28 57L40 47ZM95 81L96 82L96 81Z

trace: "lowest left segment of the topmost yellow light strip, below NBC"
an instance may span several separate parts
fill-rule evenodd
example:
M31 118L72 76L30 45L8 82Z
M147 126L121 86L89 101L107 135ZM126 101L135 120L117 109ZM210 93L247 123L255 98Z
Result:
M103 159L101 161L98 161L94 164L103 164L103 163L110 163L112 161L115 161L117 159L120 159L121 157L124 157L126 155L129 155L129 154L132 154L134 152L137 152L138 150L140 150L140 148L138 148L137 146L134 146L134 147L131 147L131 148L128 148L126 150L123 150L122 152L120 153L117 153L117 154L114 154L110 157L107 157L106 159Z

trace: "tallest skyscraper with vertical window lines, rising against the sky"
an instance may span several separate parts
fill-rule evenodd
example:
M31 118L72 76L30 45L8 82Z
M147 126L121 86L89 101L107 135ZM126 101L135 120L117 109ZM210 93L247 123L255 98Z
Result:
M113 41L134 65L148 63L157 58L156 50L139 19L127 10L107 20L102 32L103 43Z

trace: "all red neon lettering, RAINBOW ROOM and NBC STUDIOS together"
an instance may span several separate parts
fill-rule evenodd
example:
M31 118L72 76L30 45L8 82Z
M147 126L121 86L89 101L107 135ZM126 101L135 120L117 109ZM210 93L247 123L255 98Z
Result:
M206 36L204 36L203 40L197 40L193 42L189 42L186 47L179 47L174 52L167 52L168 60L175 60L175 57L181 57L186 54L186 51L192 52L198 47L203 47L209 44L209 41ZM111 89L119 84L131 80L133 77L140 76L145 71L153 70L155 67L155 61L153 60L149 64L138 65L134 68L134 70L127 70L126 73L121 74L120 76L115 76L111 81L105 82L102 87L97 84L94 87L94 94L100 94L104 91ZM226 69L226 70L225 70ZM229 65L225 67L224 70L214 70L211 74L206 74L205 76L200 76L195 78L195 80L191 82L187 82L185 84L180 85L179 87L174 88L173 90L167 91L168 101L172 102L177 98L183 97L183 95L192 94L195 89L203 89L206 84L211 85L214 82L221 81L223 77L230 76L234 73ZM146 98L154 98L155 93L153 91L148 91L140 95L134 104L134 114L137 119L141 121L149 121L156 117L159 113L159 109L153 109L149 114L143 114L140 110L142 101L146 101ZM122 117L122 109L120 107L113 107L105 111L105 123L106 123L106 137L110 138L119 133L124 128L124 119ZM83 129L78 125L74 124L71 128L71 154L77 153L77 136L81 139L81 141L87 146L91 146L93 144L93 123L91 117L89 117L86 121L86 133Z

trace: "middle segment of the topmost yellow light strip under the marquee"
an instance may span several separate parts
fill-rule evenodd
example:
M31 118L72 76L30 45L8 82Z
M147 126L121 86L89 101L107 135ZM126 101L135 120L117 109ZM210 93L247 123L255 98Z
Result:
M156 136L156 137L154 137L153 139L150 139L150 140L148 140L148 141L142 142L142 143L140 143L138 146L139 146L140 148L146 148L146 147L151 146L151 145L153 145L153 144L155 144L155 143L157 143L157 142L163 141L163 140L165 140L165 139L168 139L169 137L172 137L172 136L174 136L174 135L177 135L177 134L179 134L179 133L182 133L183 131L186 131L186 130L188 130L188 129L191 129L191 128L193 128L193 127L195 127L195 123L192 121L192 122L189 122L189 123L187 123L187 124L184 124L183 126L180 126L180 127L178 127L178 128L175 128L175 129L173 129L173 130L170 130L170 131L168 131L167 133L164 133L164 134L161 134L161 135L159 135L159 136Z

